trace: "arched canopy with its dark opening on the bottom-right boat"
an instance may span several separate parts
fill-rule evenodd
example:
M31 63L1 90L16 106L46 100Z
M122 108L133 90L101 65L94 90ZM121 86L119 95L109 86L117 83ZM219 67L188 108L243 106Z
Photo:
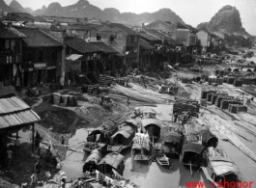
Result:
M236 166L236 164L229 157L223 156L214 156L210 158L208 171L211 176L213 176L213 180L221 180L224 179L226 181L240 181L242 175Z

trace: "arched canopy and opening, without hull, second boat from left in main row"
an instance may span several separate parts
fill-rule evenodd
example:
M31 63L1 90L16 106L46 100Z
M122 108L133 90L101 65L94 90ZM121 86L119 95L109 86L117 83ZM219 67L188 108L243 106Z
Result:
M110 143L113 145L128 146L134 137L135 127L130 125L122 126L114 135L111 136Z

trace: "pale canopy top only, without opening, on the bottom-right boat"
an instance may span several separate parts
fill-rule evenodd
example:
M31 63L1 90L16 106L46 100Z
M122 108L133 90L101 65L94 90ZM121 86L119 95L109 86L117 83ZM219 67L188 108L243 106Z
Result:
M222 159L218 159L218 160L211 159L210 161L215 175L225 175L228 173L234 173L236 175L237 174L240 175L238 167L235 165L233 161L229 159L229 157L221 157L221 158Z

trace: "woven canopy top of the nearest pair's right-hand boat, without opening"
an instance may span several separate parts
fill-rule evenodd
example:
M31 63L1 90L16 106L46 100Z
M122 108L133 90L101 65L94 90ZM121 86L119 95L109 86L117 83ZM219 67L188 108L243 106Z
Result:
M122 163L122 161L124 161L125 156L122 154L119 154L117 152L112 152L107 154L99 163L99 165L104 165L107 164L111 167L113 167L114 169L117 169L117 167L119 166L120 163Z

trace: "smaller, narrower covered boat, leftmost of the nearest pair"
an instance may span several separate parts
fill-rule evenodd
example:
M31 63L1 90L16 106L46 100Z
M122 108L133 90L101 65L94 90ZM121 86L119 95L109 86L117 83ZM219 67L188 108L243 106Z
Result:
M98 164L101 160L100 150L94 149L91 154L87 157L84 166L83 173L98 170Z

